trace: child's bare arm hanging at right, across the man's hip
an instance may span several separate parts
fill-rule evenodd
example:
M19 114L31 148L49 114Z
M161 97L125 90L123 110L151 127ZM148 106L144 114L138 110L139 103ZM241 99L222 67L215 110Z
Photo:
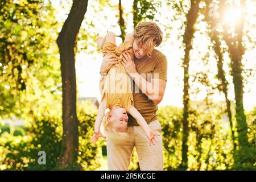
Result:
M155 144L154 140L155 140L155 135L160 136L159 134L154 133L154 131L152 131L150 129L150 127L147 125L147 122L145 121L145 119L142 117L141 113L139 113L139 111L134 107L131 106L130 107L130 111L129 114L131 114L131 116L136 119L136 121L138 122L139 126L141 126L143 128L143 130L146 132L147 134L147 138L150 139L150 145ZM155 140L155 142L157 142Z

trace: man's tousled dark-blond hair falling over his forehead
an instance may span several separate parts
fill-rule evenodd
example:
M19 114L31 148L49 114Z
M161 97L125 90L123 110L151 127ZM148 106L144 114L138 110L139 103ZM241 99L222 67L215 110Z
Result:
M163 32L160 27L154 22L141 22L133 32L135 42L143 47L151 47L153 42L155 46L159 46L163 40Z

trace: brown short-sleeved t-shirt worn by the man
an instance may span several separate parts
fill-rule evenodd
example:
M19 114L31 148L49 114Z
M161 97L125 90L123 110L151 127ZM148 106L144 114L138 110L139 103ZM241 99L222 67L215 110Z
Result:
M147 81L151 82L152 78L157 77L167 81L167 59L166 56L157 49L154 49L151 57L145 56L142 59L134 58L134 63L137 72L146 78ZM141 113L147 123L155 121L158 119L158 115L156 114L158 105L148 99L148 97L139 90L134 81L131 81L133 82L131 85L133 86L134 107ZM130 114L128 114L128 117L129 126L139 126L137 121Z

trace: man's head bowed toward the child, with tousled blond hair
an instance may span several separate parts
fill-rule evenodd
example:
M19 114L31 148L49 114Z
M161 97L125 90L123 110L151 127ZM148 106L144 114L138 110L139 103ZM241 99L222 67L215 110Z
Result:
M154 22L139 23L137 27L134 28L133 36L133 51L138 59L150 55L154 47L159 46L163 40L163 32Z

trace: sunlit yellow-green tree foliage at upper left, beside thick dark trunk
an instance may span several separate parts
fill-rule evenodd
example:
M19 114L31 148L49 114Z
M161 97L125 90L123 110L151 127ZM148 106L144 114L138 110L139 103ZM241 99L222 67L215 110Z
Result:
M56 21L50 3L39 0L4 0L0 10L0 115L20 117L25 109L20 98L28 93L31 75L48 59L49 32Z

